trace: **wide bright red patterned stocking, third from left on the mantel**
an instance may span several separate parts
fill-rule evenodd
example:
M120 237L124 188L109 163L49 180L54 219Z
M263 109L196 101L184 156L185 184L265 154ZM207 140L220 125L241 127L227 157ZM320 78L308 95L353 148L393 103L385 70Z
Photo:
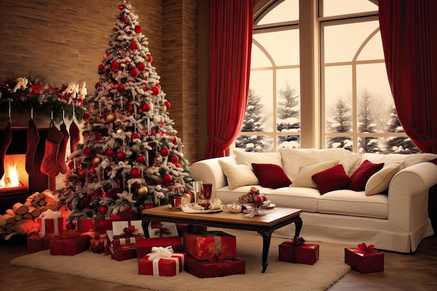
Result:
M64 134L54 126L53 121L50 123L50 129L45 139L45 152L43 162L41 163L41 172L50 177L56 177L59 174L59 165L57 163L59 143L64 138Z

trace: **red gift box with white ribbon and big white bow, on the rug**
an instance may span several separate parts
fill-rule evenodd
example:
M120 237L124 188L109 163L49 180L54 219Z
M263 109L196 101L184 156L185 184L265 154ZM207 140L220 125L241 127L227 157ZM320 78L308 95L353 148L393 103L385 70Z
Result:
M149 258L151 260L149 260ZM184 270L185 253L172 253L171 258L154 258L149 253L138 259L138 274L151 276L176 276Z

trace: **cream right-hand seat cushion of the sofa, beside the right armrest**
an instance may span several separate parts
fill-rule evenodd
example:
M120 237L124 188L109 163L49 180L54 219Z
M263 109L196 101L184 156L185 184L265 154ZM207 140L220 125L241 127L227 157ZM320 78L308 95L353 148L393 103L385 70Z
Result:
M326 214L387 218L388 195L366 196L364 191L336 190L320 196L317 209L318 212Z

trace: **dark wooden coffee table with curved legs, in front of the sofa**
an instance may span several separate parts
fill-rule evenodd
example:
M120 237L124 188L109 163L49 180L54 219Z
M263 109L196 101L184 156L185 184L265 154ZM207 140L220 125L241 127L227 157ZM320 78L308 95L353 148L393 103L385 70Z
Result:
M142 210L142 223L145 232L150 221L163 221L170 223L186 223L188 225L206 225L210 227L223 227L235 230L253 230L262 236L262 273L267 269L267 255L269 253L270 239L274 230L295 223L295 237L299 237L302 229L301 209L274 207L262 209L264 214L246 217L245 214L233 214L229 211L212 213L185 213L171 209L170 205Z

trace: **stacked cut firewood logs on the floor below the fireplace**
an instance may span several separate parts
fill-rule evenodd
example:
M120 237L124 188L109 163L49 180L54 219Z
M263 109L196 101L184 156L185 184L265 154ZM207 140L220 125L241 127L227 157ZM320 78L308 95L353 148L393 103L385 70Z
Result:
M0 215L0 237L38 233L39 224L36 218L49 209L57 211L58 206L55 196L48 189L30 195L24 204L15 203L12 209L7 209L5 214Z

